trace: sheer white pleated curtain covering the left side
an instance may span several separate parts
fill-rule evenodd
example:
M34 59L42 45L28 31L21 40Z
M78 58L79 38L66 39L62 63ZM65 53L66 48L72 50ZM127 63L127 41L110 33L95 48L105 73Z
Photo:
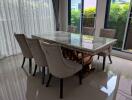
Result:
M0 0L0 58L21 52L14 33L55 30L52 0Z

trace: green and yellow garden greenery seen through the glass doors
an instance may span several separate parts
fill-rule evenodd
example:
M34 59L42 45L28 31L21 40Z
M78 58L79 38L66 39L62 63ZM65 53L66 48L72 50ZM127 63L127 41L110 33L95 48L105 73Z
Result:
M116 38L118 39L116 48L122 47L124 38L124 32L126 27L126 21L129 11L129 3L111 3L109 18L107 22L107 28L116 29ZM94 19L96 14L96 8L85 8L83 17L83 26L94 26ZM80 11L71 11L71 24L74 26L80 23Z

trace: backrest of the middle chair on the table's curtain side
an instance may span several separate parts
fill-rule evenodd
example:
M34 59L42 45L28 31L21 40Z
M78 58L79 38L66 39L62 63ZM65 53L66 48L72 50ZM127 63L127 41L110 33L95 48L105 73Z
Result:
M45 54L40 46L40 42L38 39L29 39L26 38L27 43L29 45L29 48L31 50L31 53L33 55L33 58L35 60L35 63L39 67L46 67L47 66L47 61Z

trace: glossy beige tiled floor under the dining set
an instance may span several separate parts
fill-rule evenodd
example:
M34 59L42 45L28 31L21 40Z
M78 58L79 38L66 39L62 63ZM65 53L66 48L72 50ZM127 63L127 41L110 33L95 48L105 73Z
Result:
M112 57L113 64L101 70L100 61L94 61L96 70L78 84L78 77L64 80L63 100L132 100L132 61ZM53 78L50 87L41 84L39 73L28 74L28 62L20 67L22 56L0 60L0 100L59 100L59 81Z

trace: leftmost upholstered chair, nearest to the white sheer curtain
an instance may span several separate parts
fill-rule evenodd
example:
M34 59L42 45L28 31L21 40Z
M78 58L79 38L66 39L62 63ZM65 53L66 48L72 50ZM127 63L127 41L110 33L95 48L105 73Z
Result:
M29 46L27 44L27 41L26 41L26 36L24 34L14 34L21 50L22 50L22 54L23 54L23 63L22 63L22 68L24 66L24 63L25 63L25 59L28 58L29 59L29 73L32 72L32 53L29 49Z

